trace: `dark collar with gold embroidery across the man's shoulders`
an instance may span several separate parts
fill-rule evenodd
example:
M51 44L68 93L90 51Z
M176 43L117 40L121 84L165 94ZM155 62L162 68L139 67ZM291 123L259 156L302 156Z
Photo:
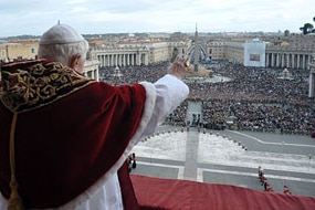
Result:
M61 63L45 60L3 65L1 75L1 101L17 113L51 104L95 82Z

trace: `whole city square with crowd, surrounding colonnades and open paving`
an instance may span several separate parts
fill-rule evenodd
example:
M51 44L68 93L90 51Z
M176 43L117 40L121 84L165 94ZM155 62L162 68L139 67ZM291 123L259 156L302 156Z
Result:
M132 150L132 175L315 197L315 35L147 33L85 35L84 74L115 85L154 82L178 55L186 99ZM0 60L34 59L38 39L0 42Z

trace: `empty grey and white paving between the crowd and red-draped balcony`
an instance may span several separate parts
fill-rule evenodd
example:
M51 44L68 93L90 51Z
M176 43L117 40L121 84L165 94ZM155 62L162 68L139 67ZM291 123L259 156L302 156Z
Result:
M161 126L132 153L137 158L133 174L263 190L261 166L275 192L286 185L294 195L315 197L315 139L309 136Z

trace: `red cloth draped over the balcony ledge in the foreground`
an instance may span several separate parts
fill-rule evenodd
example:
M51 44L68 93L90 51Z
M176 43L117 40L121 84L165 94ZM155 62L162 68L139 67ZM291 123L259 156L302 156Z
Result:
M141 210L314 210L315 198L130 175Z

